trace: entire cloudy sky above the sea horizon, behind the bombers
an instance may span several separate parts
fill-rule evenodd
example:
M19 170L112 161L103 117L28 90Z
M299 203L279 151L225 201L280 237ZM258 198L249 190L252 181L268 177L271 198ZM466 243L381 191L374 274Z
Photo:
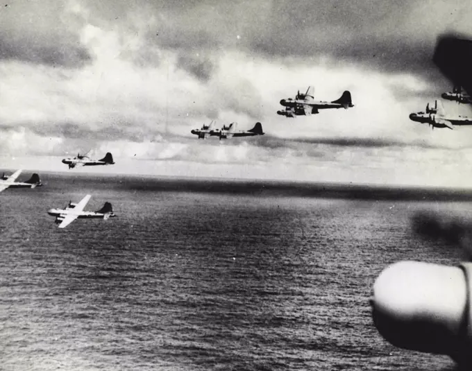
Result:
M410 121L452 86L437 37L472 37L464 1L14 0L0 4L0 166L471 187L472 127ZM355 107L278 116L314 86ZM448 112L471 107L444 103ZM257 138L196 139L216 120Z

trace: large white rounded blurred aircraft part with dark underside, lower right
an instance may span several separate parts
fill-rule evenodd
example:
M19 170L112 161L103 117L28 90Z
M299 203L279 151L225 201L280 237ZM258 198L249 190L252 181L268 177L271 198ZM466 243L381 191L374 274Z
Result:
M446 354L472 365L472 264L401 261L376 279L373 322L396 347Z

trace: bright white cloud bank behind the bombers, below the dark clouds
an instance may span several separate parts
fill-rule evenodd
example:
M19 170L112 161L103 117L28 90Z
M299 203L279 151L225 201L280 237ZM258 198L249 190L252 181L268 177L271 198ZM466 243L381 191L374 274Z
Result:
M169 22L176 26L177 39L170 37L168 44L185 41L178 32L187 30L178 28L179 22L163 19L164 11L153 14L138 9L126 17L120 12L117 21L103 21L90 7L86 2L69 2L55 13L60 29L75 35L92 56L81 68L0 60L3 155L60 155L92 148L98 156L112 152L125 162L131 158L160 160L160 165L188 162L179 173L193 169L197 162L210 169L217 169L213 164L268 166L277 176L284 176L290 166L303 173L305 166L327 176L334 169L335 179L344 179L339 175L344 171L366 182L392 176L406 179L405 174L413 176L415 171L429 177L434 169L443 165L453 169L469 158L472 136L466 133L470 130L432 132L408 118L410 112L424 109L427 102L420 95L432 89L430 81L412 72L372 71L364 64L334 61L322 53L305 60L267 58L239 44L247 37L237 23L230 25L234 35L226 48L213 45L212 40L205 44L206 36L215 37L213 31L201 33L198 47L160 46L150 39L154 28L155 37L160 37L161 26ZM258 27L253 28L251 32ZM323 101L350 90L355 107L296 119L276 114L282 108L281 98L294 96L308 85ZM398 98L403 93L407 98ZM448 109L457 107L448 105ZM210 119L217 119L220 126L236 121L239 129L260 121L269 139L190 139L189 130ZM309 140L285 142L274 137ZM370 144L355 141L359 138ZM336 139L349 139L351 144L339 145ZM376 146L376 141L386 143L385 147ZM397 147L389 148L390 141ZM428 146L442 149L428 150ZM462 152L458 156L447 148L462 148ZM356 166L362 171L346 170Z

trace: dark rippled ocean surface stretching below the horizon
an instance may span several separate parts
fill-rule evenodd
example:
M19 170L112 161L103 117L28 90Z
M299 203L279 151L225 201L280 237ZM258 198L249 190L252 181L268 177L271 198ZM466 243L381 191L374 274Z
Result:
M395 261L463 259L412 217L467 215L469 200L73 173L42 182L0 193L0 370L453 370L447 356L383 340L369 297ZM47 210L87 193L86 209L109 201L117 217L58 229Z

